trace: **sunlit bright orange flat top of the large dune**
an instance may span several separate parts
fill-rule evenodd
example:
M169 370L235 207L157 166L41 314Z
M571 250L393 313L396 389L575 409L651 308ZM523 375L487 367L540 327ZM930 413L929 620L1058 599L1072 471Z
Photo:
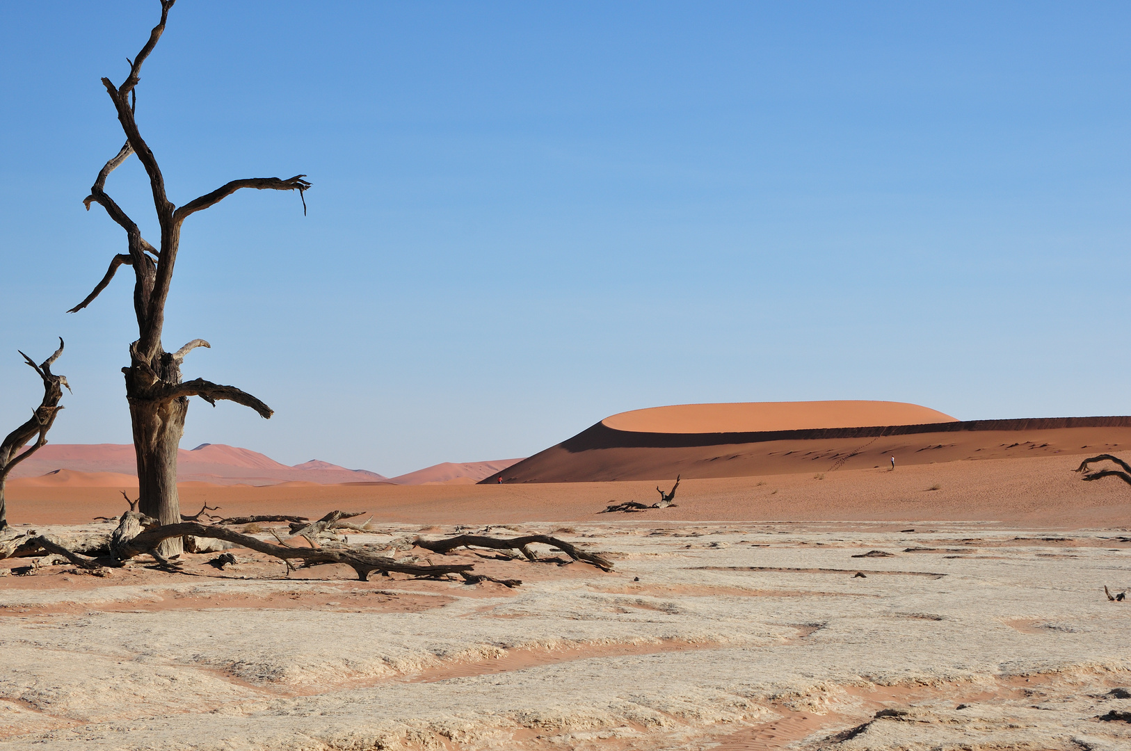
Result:
M633 433L754 433L822 428L924 425L958 422L938 409L904 402L735 402L677 404L622 412L601 421Z

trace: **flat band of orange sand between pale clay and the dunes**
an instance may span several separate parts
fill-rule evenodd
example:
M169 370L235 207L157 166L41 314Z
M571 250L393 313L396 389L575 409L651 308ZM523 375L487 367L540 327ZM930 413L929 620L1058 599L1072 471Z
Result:
M1095 448L1095 447L1093 447ZM504 485L181 485L181 508L205 502L224 515L300 513L334 509L372 513L374 524L521 524L526 521L701 520L1001 520L1034 527L1126 527L1131 489L1111 478L1086 483L1079 456L1033 456L873 469L719 477L680 483L675 507L598 513L610 503L658 500L656 482ZM1098 452L1098 451L1097 451ZM823 467L828 469L828 467ZM819 478L820 477L820 478ZM671 481L664 490L671 487ZM932 490L935 489L935 490ZM126 508L115 489L10 486L8 518L19 524L78 524ZM914 525L905 525L914 526ZM901 527L895 526L893 529Z

